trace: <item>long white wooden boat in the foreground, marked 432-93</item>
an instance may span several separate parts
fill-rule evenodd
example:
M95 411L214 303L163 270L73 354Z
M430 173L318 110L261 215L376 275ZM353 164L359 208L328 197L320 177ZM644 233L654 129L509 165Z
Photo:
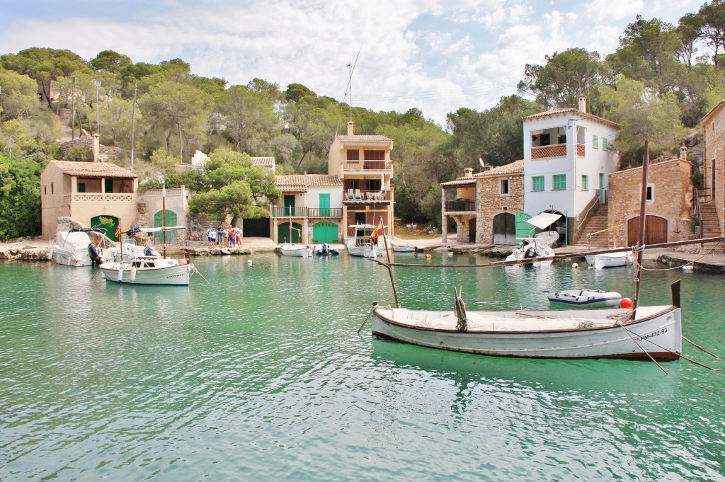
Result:
M430 348L502 357L676 360L682 320L676 306L468 312L375 307L373 335Z

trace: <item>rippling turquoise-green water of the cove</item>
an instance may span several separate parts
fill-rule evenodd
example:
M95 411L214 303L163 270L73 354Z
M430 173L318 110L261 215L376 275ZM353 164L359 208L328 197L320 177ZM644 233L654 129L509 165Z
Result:
M356 333L373 301L393 303L373 262L194 263L209 283L0 263L0 480L725 480L724 371L378 341L370 325ZM411 308L451 308L453 286L468 309L547 307L548 289L634 294L625 268L394 273ZM724 277L644 278L643 304L668 304L682 278L685 336L725 356Z

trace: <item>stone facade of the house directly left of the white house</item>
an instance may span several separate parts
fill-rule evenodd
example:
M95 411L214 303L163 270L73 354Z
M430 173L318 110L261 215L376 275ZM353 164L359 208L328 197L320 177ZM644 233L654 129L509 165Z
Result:
M508 192L501 194L501 181L508 179ZM502 212L523 211L523 174L479 178L476 199L476 243L493 244L494 216Z

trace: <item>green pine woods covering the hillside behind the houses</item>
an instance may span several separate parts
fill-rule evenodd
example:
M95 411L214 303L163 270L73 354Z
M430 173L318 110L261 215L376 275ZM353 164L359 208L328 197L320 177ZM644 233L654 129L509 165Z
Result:
M522 74L518 91L491 109L460 107L441 126L426 120L420 109L350 109L299 83L282 89L254 78L229 86L222 78L195 75L182 59L134 63L124 54L101 51L85 61L72 51L48 47L3 54L0 205L11 212L21 209L8 201L18 185L11 180L32 178L48 159L59 157L59 109L75 112L76 128L99 130L101 144L120 148L112 161L125 167L133 139L135 172L165 173L168 187L190 181L172 173L197 149L219 149L223 159L231 158L224 154L228 151L273 156L278 174L326 173L329 146L352 112L355 133L395 141L395 212L404 223L439 223L439 183L462 175L479 158L489 165L521 159L521 117L576 107L580 94L588 95L590 112L620 124L613 147L621 167L640 162L645 138L653 157L676 157L703 115L725 98L725 0L703 4L678 25L637 16L619 37L616 51L552 52L544 65L526 65ZM71 157L81 159L83 153ZM21 168L18 159L36 163L38 170ZM207 182L196 187L203 195L224 186ZM39 201L29 199L28 206L22 211L37 209L39 217ZM207 212L204 203L194 206ZM3 216L12 219L7 210ZM17 229L0 227L0 237L13 234Z

